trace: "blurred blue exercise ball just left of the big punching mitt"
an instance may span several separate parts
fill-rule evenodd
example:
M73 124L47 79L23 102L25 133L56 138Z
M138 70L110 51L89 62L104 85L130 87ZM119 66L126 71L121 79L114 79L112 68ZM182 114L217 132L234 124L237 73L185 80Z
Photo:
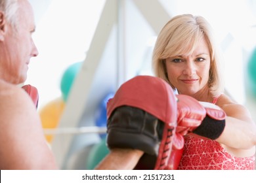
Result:
M98 105L95 114L95 125L98 127L106 127L107 117L106 117L106 104L109 99L114 97L114 93L108 93L104 99ZM106 133L100 134L100 138L106 137Z

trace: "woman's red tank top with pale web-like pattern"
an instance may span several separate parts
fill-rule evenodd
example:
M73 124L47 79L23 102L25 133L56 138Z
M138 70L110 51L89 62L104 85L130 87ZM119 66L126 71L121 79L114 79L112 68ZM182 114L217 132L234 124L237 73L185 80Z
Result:
M217 102L218 98L213 100ZM184 150L179 170L254 170L255 155L237 158L229 154L219 142L197 137L184 137Z

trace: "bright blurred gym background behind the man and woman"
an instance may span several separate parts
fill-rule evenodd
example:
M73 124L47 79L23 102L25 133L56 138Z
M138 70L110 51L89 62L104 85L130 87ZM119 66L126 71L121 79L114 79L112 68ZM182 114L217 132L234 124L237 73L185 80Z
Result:
M26 84L39 90L45 137L61 169L93 169L108 153L106 101L136 75L152 75L161 27L205 17L223 52L226 92L256 121L256 0L30 0L35 12Z

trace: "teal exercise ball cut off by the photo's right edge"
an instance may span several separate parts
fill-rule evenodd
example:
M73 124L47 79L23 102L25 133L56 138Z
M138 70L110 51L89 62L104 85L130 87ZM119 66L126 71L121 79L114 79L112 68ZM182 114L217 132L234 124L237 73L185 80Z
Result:
M249 85L256 95L256 48L253 50L248 62Z

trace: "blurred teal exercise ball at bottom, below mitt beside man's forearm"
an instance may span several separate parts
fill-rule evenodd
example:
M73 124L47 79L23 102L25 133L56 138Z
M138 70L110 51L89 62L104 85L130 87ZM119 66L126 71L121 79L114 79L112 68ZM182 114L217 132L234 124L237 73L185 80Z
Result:
M89 152L86 168L88 170L95 169L96 165L98 165L98 163L100 163L100 161L102 161L109 152L110 150L106 146L106 138L101 139L101 141L98 144L95 144Z

